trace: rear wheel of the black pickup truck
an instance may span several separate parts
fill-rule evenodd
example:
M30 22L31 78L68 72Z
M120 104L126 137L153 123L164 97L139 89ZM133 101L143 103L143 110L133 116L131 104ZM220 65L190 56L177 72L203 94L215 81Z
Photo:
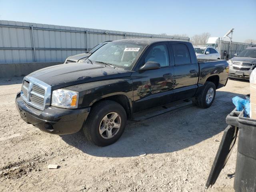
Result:
M206 95L208 94L208 91L210 92L210 90L213 91L213 97L212 97L211 100L208 100L208 102L207 102ZM215 98L215 95L216 95L216 86L215 86L215 84L213 82L206 81L201 94L199 96L197 96L197 98L196 98L196 104L200 108L208 108L212 105L212 103L214 101L214 98Z

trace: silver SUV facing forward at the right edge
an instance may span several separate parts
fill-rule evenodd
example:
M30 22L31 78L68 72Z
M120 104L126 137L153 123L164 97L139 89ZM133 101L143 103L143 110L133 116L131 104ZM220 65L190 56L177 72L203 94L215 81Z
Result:
M256 67L256 47L248 47L240 54L228 60L230 78L250 79L252 70Z

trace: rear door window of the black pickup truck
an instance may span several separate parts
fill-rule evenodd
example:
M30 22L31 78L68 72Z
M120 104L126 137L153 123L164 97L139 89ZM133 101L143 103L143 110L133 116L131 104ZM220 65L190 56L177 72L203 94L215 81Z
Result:
M182 43L172 44L175 65L191 64L188 47Z

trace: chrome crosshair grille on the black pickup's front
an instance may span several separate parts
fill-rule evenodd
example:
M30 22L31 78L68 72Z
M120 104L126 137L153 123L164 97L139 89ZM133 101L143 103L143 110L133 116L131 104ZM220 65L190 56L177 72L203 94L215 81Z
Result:
M21 89L22 99L30 106L44 110L50 106L51 86L36 78L24 77Z

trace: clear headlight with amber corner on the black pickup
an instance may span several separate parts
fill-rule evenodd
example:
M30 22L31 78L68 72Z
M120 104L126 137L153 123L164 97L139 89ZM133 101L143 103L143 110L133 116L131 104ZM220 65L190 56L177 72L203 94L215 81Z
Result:
M62 108L77 108L79 93L65 89L58 89L52 92L52 106Z

